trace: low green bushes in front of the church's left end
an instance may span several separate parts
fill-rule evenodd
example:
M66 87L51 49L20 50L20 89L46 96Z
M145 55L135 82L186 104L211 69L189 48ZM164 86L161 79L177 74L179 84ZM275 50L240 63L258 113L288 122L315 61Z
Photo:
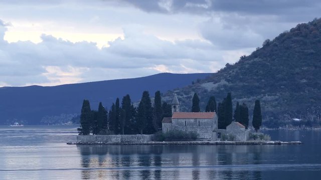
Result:
M197 132L186 132L182 130L170 130L168 132L163 133L162 131L158 131L155 134L156 141L189 141L197 139Z

